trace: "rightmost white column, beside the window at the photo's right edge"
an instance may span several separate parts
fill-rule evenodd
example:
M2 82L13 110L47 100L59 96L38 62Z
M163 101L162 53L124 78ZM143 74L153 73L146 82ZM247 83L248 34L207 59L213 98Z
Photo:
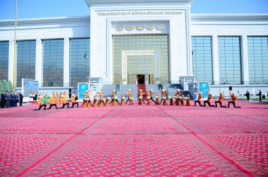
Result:
M248 38L246 34L241 37L241 54L242 54L242 79L243 84L249 84L249 73L248 73Z

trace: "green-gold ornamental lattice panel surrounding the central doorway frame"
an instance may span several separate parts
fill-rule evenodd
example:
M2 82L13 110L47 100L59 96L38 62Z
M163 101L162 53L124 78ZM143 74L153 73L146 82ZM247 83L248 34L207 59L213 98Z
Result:
M114 84L118 84L122 81L122 67L121 67L122 51L158 51L159 76L160 76L159 79L161 83L169 84L169 35L167 34L120 35L120 36L114 35L112 39L113 39ZM146 55L142 56L142 58L146 57L147 57ZM135 67L140 66L136 65ZM140 69L134 68L134 70L140 70ZM152 68L152 70L154 70L154 67ZM145 70L143 71L144 73L139 74L148 74L145 72Z

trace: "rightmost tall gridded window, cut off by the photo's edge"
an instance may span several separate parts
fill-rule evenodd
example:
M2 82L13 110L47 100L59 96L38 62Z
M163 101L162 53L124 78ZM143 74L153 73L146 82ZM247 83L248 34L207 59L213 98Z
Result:
M268 84L268 37L248 37L248 70L250 84Z

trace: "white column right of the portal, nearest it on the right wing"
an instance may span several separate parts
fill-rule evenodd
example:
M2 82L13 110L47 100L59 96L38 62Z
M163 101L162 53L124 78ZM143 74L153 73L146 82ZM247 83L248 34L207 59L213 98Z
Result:
M213 84L219 84L219 45L218 36L212 36L212 66L213 66Z

